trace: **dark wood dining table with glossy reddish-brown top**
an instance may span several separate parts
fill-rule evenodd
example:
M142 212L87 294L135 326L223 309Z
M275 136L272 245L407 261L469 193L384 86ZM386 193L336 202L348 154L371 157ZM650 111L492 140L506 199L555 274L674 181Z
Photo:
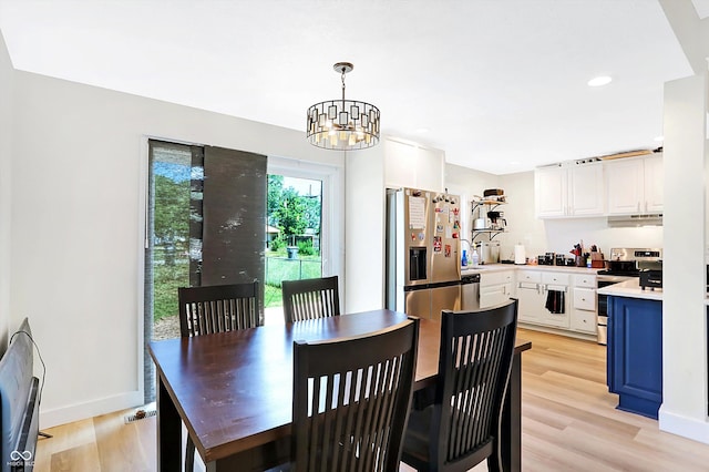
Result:
M372 332L407 315L373 310L150 343L157 370L157 469L182 469L182 423L207 471L264 470L289 459L294 340ZM414 390L435 383L441 325L421 319ZM504 470L521 469L521 355L517 339L503 411ZM357 356L357 352L352 352Z

